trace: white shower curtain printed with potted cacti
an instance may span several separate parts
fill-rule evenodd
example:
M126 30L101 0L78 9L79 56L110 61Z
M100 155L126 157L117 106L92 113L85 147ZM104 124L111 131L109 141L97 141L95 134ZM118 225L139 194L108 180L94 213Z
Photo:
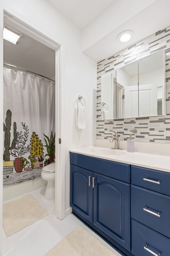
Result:
M41 176L54 161L55 85L21 71L4 68L3 185Z

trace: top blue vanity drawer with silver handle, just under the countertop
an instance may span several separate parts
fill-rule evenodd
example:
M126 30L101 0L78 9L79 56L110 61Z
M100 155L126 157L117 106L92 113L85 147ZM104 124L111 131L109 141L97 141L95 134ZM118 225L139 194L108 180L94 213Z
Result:
M170 173L131 166L131 183L170 195Z

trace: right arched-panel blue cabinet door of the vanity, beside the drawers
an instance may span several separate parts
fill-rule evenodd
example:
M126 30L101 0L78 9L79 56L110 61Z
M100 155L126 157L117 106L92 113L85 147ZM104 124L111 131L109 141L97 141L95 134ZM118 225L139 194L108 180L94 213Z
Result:
M130 185L94 173L93 223L130 250Z

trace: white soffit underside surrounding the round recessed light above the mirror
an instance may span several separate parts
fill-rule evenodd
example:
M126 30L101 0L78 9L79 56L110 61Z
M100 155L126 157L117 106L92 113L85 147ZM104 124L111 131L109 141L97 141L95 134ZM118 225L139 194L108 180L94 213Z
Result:
M96 42L93 42L93 44L91 43L83 52L96 62L110 57L170 26L169 10L169 0L156 0L130 19L128 18L121 25L115 27L111 32L106 33L99 40L96 40ZM90 28L90 26L91 24L88 27ZM133 30L135 34L128 42L121 43L116 40L116 37L124 30ZM88 34L86 33L86 38L88 38Z

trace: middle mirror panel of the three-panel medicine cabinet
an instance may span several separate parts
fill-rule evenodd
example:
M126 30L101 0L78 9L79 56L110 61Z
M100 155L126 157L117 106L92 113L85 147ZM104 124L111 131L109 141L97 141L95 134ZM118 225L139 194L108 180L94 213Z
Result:
M116 114L117 119L138 116L138 61L116 70Z

